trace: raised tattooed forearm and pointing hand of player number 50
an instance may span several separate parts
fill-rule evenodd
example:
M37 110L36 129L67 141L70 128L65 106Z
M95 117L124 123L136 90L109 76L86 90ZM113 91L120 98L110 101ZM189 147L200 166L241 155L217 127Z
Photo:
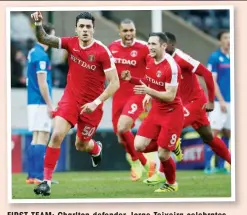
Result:
M47 45L49 47L59 48L60 38L47 34L42 26L43 16L41 12L37 11L35 13L32 13L31 18L35 22L37 40L40 43Z

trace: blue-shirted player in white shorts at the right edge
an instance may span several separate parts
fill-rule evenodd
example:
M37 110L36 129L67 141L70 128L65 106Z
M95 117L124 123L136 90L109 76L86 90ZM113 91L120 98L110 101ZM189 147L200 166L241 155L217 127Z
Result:
M215 108L209 119L214 135L222 134L222 139L229 147L231 134L231 96L230 96L230 34L222 31L218 35L220 48L214 51L208 59L208 69L212 71L215 80ZM205 148L205 173L212 173L210 160L213 152ZM217 167L220 172L227 172L224 160L217 158ZM217 170L217 168L215 169Z

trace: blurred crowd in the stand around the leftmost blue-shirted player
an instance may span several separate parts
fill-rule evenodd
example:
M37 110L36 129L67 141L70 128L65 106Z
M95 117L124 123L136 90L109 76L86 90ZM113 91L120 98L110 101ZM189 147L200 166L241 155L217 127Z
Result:
M29 13L11 12L11 87L26 87L28 52L33 48L36 37ZM67 53L65 50L51 49L53 85L64 88L67 76Z

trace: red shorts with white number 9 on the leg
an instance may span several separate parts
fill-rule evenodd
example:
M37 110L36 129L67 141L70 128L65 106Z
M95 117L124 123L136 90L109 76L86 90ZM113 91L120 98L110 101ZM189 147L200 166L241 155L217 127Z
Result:
M143 95L134 95L131 97L113 97L112 101L112 124L114 132L117 133L117 124L121 115L129 116L135 122L144 111L142 107ZM132 127L134 127L133 124Z

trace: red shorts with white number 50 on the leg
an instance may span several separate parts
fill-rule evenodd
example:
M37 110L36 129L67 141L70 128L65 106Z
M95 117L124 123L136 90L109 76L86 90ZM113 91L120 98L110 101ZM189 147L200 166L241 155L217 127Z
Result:
M101 121L103 110L101 105L93 113L80 115L81 106L71 91L66 88L54 116L64 118L72 127L77 124L77 136L84 142L92 139L92 136L95 134Z

